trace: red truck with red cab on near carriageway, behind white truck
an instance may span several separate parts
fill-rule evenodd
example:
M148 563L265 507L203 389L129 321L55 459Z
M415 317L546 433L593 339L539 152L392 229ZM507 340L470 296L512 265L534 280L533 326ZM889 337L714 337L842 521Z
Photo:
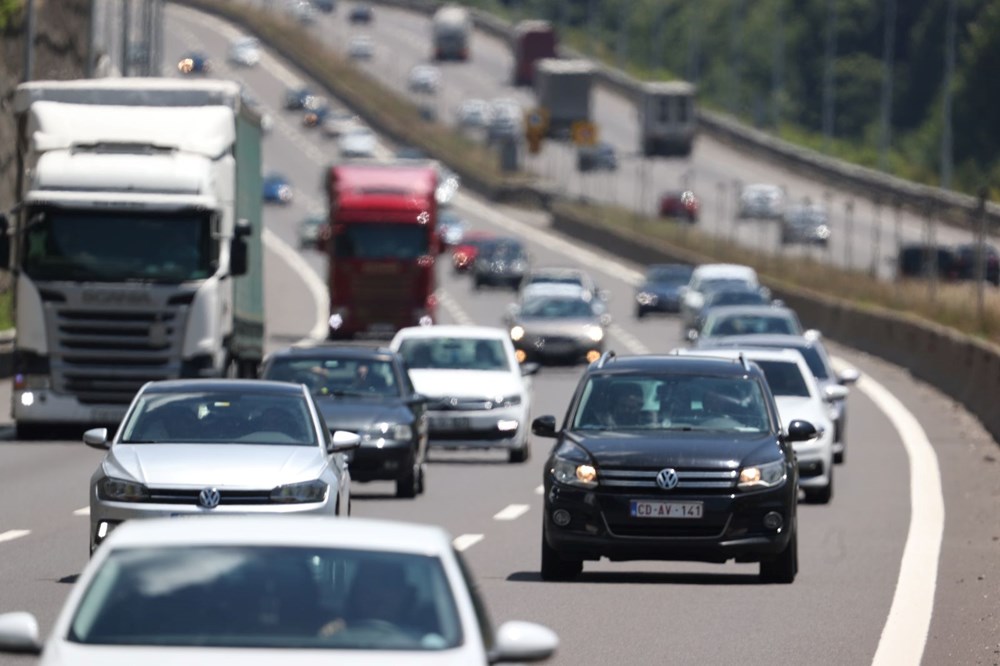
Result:
M330 167L330 339L434 323L437 180L429 162Z

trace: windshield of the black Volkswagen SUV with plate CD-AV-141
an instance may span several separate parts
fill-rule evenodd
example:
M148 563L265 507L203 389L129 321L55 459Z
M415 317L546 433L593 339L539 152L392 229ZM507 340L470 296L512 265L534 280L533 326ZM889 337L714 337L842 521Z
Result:
M760 383L711 375L594 375L572 417L578 430L771 429Z

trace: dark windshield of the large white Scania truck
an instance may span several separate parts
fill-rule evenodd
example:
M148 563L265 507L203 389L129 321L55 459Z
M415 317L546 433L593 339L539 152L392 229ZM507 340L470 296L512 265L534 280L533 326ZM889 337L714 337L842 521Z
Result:
M47 210L29 218L22 267L36 280L201 280L215 270L208 214Z

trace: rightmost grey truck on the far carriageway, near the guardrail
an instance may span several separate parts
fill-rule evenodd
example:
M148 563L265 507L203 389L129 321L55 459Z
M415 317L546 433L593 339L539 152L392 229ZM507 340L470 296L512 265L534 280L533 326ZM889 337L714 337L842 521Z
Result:
M686 81L647 81L638 103L639 150L650 155L691 154L697 132L695 87Z

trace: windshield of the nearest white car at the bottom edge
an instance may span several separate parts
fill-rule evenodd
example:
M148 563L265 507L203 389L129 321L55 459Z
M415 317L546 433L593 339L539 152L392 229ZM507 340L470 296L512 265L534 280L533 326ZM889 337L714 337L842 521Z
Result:
M437 651L461 645L463 636L437 557L184 546L110 553L76 608L68 639L87 645Z

